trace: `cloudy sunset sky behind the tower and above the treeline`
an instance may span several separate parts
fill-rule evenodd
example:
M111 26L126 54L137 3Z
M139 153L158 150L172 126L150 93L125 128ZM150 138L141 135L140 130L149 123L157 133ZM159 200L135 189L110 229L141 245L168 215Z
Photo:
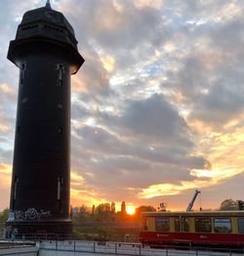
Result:
M9 206L24 12L0 1L0 209ZM185 210L244 199L244 1L52 0L86 60L71 80L71 204Z

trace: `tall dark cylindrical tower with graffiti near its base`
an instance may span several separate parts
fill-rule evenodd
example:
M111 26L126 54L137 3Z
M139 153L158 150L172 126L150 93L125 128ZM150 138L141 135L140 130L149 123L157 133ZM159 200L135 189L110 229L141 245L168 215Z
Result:
M84 63L60 12L26 12L8 59L20 68L6 234L70 234L70 74Z

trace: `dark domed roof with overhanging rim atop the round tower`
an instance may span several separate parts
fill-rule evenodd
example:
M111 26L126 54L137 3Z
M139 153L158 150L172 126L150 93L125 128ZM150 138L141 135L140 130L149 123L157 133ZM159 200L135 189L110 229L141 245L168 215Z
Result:
M84 59L77 51L77 40L70 23L61 12L51 8L50 0L46 5L26 12L18 27L16 39L11 41L8 59L20 66L22 52L31 47L33 49L60 49L60 53L67 56L72 63L71 72L75 73ZM38 47L37 47L38 46ZM42 48L41 48L42 47ZM42 51L41 50L41 51Z

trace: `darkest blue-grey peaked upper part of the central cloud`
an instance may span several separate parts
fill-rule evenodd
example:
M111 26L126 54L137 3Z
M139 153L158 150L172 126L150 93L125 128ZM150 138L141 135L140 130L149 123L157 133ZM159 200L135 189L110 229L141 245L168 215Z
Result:
M141 101L133 101L119 121L133 134L172 143L187 141L187 126L183 118L160 95Z

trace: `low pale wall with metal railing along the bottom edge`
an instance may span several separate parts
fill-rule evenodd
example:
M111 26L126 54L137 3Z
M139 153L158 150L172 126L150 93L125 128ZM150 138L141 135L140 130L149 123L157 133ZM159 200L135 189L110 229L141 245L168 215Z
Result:
M65 251L69 253L96 253L104 255L139 255L139 256L234 256L244 255L243 249L226 248L188 248L174 246L174 248L155 248L143 246L141 243L106 242L106 241L41 241L40 250Z

